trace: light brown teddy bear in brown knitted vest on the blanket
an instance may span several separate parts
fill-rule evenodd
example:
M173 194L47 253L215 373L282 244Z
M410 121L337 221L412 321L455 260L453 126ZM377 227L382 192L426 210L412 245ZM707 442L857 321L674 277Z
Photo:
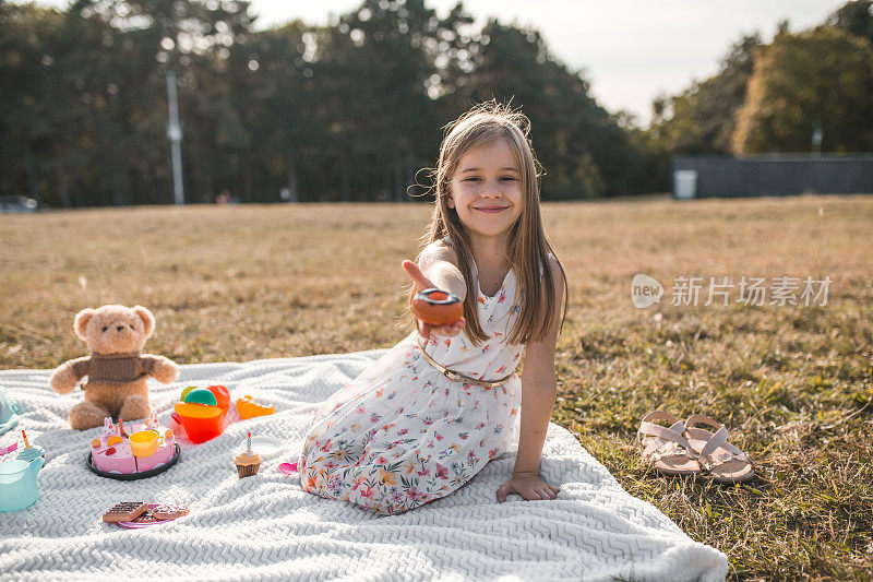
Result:
M75 316L75 334L91 349L91 356L71 359L58 367L49 384L67 394L87 376L82 385L85 402L70 411L70 426L85 430L103 426L104 418L122 420L145 418L151 413L146 378L169 383L179 376L179 367L164 356L141 354L155 329L155 317L146 308L105 305L83 309Z

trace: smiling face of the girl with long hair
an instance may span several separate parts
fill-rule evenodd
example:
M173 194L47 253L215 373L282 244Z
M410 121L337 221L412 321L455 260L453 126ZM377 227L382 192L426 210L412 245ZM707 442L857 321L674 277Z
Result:
M470 235L505 235L522 215L522 174L505 140L467 152L450 180L450 209Z

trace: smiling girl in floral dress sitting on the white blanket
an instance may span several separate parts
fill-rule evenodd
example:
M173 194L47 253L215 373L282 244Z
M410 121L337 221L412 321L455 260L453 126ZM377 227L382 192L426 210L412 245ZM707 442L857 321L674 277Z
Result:
M324 402L299 460L307 491L399 513L447 496L511 443L515 467L498 501L559 491L539 477L539 462L566 283L542 231L528 129L526 117L493 102L449 126L430 240L418 265L403 266L412 294L454 293L464 317L442 326L417 321Z

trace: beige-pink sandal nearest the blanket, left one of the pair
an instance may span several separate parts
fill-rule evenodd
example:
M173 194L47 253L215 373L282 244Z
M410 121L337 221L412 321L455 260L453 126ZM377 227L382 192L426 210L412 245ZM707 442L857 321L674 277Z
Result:
M657 420L666 420L671 426L656 425ZM648 413L639 423L636 436L643 447L643 459L658 473L677 476L696 475L702 471L696 453L682 436L684 428L682 420L661 411Z

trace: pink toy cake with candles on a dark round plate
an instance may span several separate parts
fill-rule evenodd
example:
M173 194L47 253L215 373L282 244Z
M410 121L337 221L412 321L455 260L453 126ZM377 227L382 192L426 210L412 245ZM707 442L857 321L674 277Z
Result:
M123 431L127 436L121 433ZM155 451L147 456L133 454L133 447L142 448L143 444L131 443L131 436L137 432L153 432L154 440L151 444ZM163 439L162 439L163 437ZM152 439L151 435L144 438ZM141 452L142 454L142 452ZM167 427L157 423L153 415L145 423L112 424L111 418L104 420L103 433L91 441L91 460L96 468L104 473L132 475L159 468L169 463L176 454L176 437Z

